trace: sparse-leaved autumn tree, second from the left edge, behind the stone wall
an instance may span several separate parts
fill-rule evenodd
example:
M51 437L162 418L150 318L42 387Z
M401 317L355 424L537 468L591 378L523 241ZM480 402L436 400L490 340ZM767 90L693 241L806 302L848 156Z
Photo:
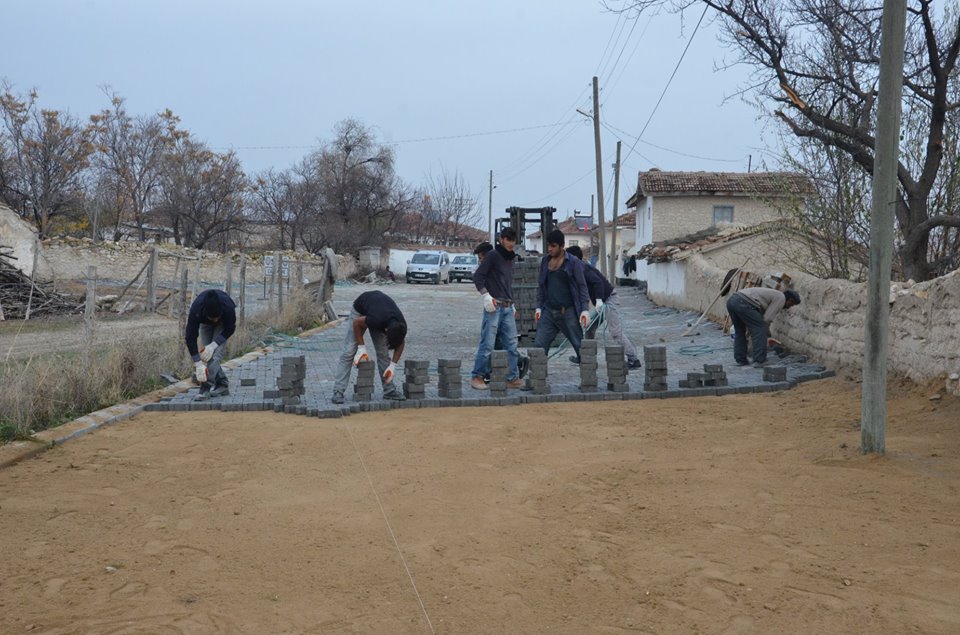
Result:
M92 115L97 146L95 165L101 172L100 189L112 189L113 239L119 240L120 226L131 221L141 241L146 240L146 213L160 187L163 155L170 139L170 125L178 121L169 110L149 117L132 117L124 99L105 89L110 108Z

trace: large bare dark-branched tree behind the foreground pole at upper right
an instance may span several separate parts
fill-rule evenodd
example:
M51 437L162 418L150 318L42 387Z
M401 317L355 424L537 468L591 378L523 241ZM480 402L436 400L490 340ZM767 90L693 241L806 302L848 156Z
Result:
M725 44L753 70L745 94L798 138L847 154L873 174L880 60L880 0L608 0L615 10L664 5L712 12ZM956 209L931 199L944 161L945 132L960 108L958 6L938 14L933 0L908 3L903 111L915 138L904 138L898 168L898 254L904 274L925 280L939 272L931 233L960 227ZM948 232L949 233L949 232Z

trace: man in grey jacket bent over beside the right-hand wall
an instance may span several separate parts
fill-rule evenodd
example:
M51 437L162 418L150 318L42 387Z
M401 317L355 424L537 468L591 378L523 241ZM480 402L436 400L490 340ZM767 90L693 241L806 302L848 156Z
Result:
M800 295L793 289L777 291L767 287L740 289L727 299L727 313L733 322L733 358L737 366L746 366L747 330L753 344L753 365L763 366L767 361L769 325L781 309L800 304Z

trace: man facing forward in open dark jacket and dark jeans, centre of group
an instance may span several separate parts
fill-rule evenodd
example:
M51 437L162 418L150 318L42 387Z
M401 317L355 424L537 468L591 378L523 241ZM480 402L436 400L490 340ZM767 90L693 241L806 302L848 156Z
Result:
M563 232L547 234L547 255L540 261L537 278L537 334L533 345L550 352L558 333L563 333L580 363L580 340L590 320L590 295L583 277L584 264L564 249ZM579 317L578 317L579 316Z

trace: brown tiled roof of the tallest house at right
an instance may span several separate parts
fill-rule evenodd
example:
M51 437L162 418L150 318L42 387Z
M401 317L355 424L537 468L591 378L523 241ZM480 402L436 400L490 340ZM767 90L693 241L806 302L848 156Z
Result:
M757 196L810 196L809 178L797 172L641 172L641 196L658 194L747 194ZM637 195L627 201L636 206Z

